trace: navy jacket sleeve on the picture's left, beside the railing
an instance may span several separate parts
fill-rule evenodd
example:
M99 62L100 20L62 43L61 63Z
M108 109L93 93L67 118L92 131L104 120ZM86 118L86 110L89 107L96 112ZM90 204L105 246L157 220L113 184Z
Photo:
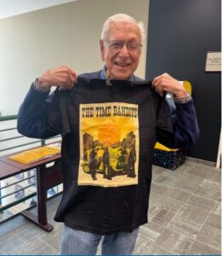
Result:
M26 137L48 138L60 134L60 104L54 93L37 91L33 84L18 113L17 130Z

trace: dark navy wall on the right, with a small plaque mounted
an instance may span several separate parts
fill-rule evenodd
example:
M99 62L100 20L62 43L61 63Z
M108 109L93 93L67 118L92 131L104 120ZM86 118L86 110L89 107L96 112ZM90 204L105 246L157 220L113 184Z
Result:
M208 51L221 49L220 0L150 0L146 79L169 73L189 80L201 130L191 157L215 162L221 117L221 73L206 73Z

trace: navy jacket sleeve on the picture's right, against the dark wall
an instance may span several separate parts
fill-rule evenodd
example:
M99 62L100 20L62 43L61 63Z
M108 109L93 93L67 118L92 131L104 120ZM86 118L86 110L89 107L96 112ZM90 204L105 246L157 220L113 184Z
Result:
M175 103L175 108L162 101L157 116L157 141L168 148L187 148L199 138L199 127L193 100Z

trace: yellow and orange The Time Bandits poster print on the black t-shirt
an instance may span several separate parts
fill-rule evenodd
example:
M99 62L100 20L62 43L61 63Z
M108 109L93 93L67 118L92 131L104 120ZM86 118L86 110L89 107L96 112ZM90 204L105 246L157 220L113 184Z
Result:
M138 105L80 104L78 185L138 184Z

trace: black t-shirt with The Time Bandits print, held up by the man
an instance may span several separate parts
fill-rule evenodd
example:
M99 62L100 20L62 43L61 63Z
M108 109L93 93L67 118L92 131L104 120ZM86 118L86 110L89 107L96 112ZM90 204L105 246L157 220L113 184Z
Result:
M172 132L151 82L79 78L72 90L55 91L48 126L62 134L56 221L103 235L147 222L154 144Z

